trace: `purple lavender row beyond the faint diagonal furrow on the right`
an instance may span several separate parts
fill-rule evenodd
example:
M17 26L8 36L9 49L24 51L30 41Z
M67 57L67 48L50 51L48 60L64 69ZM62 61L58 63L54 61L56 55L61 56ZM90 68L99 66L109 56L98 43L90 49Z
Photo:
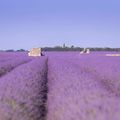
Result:
M86 72L95 75L107 90L120 96L120 57L96 53L89 56L79 56L78 59Z

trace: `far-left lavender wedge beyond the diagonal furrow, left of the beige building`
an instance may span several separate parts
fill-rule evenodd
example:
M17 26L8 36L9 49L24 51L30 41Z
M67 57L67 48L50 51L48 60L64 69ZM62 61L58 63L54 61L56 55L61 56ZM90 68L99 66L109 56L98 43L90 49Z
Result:
M0 77L10 72L15 67L31 61L33 58L28 57L25 53L1 52L0 53Z

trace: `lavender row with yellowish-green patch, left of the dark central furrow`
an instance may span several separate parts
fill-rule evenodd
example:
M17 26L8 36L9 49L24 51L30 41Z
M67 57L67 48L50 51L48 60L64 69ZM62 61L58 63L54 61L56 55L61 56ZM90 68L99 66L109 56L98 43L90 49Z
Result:
M46 57L35 58L1 77L0 120L44 120L46 82Z

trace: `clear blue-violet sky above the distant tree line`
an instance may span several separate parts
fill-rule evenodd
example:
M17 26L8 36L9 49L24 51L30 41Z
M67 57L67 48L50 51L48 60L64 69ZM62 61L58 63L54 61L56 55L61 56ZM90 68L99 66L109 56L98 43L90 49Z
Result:
M0 0L0 49L120 47L120 0Z

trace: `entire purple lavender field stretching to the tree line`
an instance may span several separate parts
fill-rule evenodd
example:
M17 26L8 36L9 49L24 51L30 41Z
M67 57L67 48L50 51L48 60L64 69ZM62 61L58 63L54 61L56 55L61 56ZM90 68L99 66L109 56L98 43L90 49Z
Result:
M0 120L120 120L120 57L108 53L0 53Z

